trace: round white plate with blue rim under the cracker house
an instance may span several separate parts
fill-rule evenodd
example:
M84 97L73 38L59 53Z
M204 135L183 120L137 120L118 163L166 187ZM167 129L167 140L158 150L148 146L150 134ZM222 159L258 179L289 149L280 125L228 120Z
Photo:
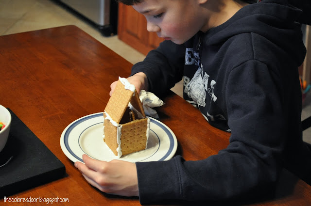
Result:
M161 161L173 158L177 149L177 140L173 131L150 118L150 133L147 149L117 158L103 141L103 112L81 117L65 128L60 138L64 154L73 162L81 161L82 155L110 161L121 159L129 162Z

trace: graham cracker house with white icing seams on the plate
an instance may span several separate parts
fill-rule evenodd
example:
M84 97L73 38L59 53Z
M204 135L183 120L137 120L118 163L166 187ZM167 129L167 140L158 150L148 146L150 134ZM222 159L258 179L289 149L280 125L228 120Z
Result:
M120 78L104 109L104 142L118 157L147 148L150 120L134 85Z

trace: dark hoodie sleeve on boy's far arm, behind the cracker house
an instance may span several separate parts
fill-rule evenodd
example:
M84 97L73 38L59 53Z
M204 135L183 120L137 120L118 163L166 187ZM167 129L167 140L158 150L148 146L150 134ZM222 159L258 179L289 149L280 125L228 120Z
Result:
M143 72L148 77L149 91L163 96L183 77L185 47L172 41L164 41L151 50L143 62L132 67L131 76Z

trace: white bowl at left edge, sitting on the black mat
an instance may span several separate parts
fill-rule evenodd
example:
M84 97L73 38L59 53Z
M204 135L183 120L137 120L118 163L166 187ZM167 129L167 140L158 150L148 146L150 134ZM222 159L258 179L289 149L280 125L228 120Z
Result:
M2 151L3 147L6 144L6 141L8 140L10 127L11 127L11 114L10 112L0 105L0 122L3 122L5 127L0 130L0 152ZM0 128L1 129L1 128Z

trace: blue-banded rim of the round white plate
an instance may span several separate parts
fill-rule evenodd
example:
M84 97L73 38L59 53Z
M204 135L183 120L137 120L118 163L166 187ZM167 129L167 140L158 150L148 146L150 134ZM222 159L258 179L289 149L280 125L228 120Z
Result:
M103 112L99 112L99 113L95 113L95 114L90 114L90 115L87 115L87 116L84 116L84 117L81 117L81 118L75 120L74 122L72 122L71 124L69 124L68 127L65 128L65 130L64 130L63 133L62 133L61 140L60 140L61 142L60 142L60 143L61 143L61 147L62 147L63 152L65 153L65 155L66 155L69 159L72 160L72 158L70 158L70 157L66 154L67 152L69 152L69 154L70 154L73 158L75 158L76 160L79 160L79 161L83 162L82 157L79 157L77 154L75 154L75 152L74 152L74 151L71 149L71 147L70 147L69 136L70 136L70 133L72 132L72 130L73 130L75 127L79 126L81 123L83 123L83 122L85 122L85 121L87 121L87 120L90 120L90 119L93 119L93 118L102 117L102 116L103 116ZM156 120L156 119L154 119L154 118L152 118L152 117L149 117L149 118L150 118L150 125L152 126L152 124L154 124L155 126L159 127L159 128L165 133L165 135L167 136L168 141L169 141L169 145L167 145L168 148L167 148L166 153L165 153L165 154L163 153L163 156L161 155L161 157L158 158L158 159L156 159L156 161L168 160L168 159L172 158L173 155L174 155L175 152L176 152L176 149L177 149L177 140L176 140L175 135L173 134L173 131L172 131L170 128L168 128L166 125L164 125L163 123L159 122L158 120ZM103 119L103 120L104 120L104 119ZM101 124L101 123L103 124L103 121L96 122L96 124L93 124L92 126L98 125L98 124ZM92 126L88 126L88 127L92 127ZM155 133L155 135L156 135L156 137L157 137L157 139L158 139L158 141L159 141L158 147L160 147L161 138L162 138L162 137L159 137L158 134L157 134L154 130L151 129L151 126L150 126L150 132L154 132L154 133ZM87 129L87 128L85 128L83 131L85 131L86 129ZM82 132L82 133L83 133L83 132ZM82 133L81 133L81 134L82 134ZM79 143L81 134L79 135L79 138L77 138L78 143ZM165 135L164 135L164 136L165 136ZM162 136L163 136L163 135L162 135ZM85 153L85 151L82 149L80 143L79 143L79 146L80 146L80 149ZM64 150L67 150L67 152L65 152ZM158 148L157 148L157 150L155 151L155 153L157 153L157 152L158 152ZM148 158L151 158L152 156L154 156L155 153L152 154L151 156L148 156L148 157L146 157L146 158L144 158L144 159L142 159L142 160L139 160L139 161L147 161ZM85 154L86 154L86 153L85 153ZM87 155L88 155L88 154L87 154ZM72 161L73 161L73 160L72 160Z

